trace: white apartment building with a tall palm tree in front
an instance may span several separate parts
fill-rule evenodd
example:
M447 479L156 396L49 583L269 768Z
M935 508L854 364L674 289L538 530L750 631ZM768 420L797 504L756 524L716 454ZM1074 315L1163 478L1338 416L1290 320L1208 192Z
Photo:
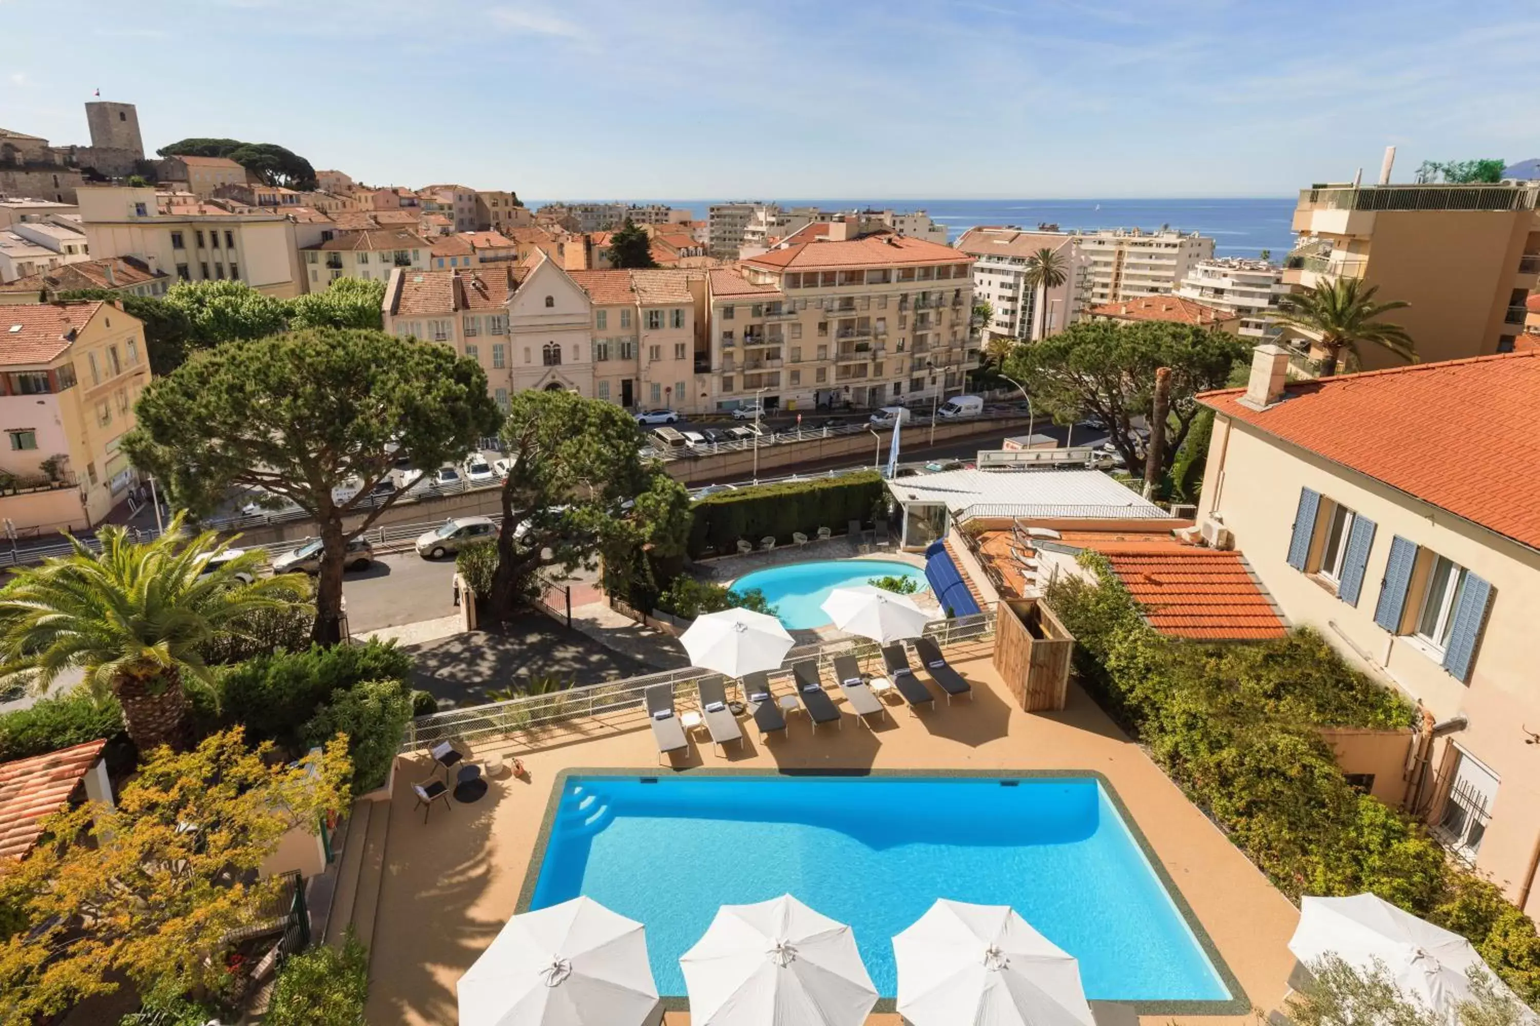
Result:
M1066 232L979 226L962 232L956 248L976 257L973 298L993 311L984 338L1033 341L1080 320L1090 295L1090 258L1078 237ZM1060 257L1064 281L1047 289L1027 285L1027 261L1043 249Z

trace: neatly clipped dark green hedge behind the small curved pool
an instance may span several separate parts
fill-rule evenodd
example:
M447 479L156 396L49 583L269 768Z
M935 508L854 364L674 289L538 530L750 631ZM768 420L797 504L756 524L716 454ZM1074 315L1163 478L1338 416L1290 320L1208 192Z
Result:
M882 492L882 477L876 471L716 492L690 506L695 523L688 552L695 558L736 552L739 538L756 548L761 538L772 535L785 543L795 531L808 537L819 528L842 532L852 520L870 521L884 501Z

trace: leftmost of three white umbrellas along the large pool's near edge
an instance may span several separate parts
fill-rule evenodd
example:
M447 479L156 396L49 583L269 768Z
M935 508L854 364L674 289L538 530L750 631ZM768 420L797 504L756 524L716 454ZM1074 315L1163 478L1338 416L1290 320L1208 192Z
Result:
M514 915L454 989L460 1026L641 1026L658 1008L642 924L584 897Z

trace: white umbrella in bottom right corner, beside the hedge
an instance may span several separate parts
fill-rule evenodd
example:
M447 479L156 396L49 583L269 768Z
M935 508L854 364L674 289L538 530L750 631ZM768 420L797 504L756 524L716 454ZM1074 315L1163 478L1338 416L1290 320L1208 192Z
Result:
M1306 964L1334 954L1360 971L1372 969L1378 960L1403 994L1448 1015L1451 1023L1460 1004L1474 998L1466 969L1488 971L1465 937L1374 894L1304 898L1289 951Z

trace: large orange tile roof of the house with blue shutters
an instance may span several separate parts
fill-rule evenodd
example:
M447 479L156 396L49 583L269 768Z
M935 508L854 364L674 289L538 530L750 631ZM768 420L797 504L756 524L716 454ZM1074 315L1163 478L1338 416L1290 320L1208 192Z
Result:
M1244 394L1198 401L1540 549L1540 351L1297 381L1263 411Z

